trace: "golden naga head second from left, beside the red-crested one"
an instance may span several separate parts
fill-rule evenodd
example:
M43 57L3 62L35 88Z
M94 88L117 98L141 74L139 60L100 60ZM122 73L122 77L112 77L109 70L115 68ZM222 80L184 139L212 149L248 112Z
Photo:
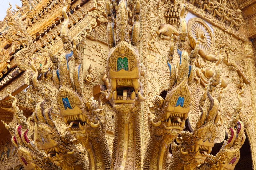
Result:
M78 149L70 133L66 132L62 136L55 128L39 123L37 127L36 145L41 148L47 158L61 169L76 169L80 166L84 169L84 152ZM82 152L81 152L82 151Z

